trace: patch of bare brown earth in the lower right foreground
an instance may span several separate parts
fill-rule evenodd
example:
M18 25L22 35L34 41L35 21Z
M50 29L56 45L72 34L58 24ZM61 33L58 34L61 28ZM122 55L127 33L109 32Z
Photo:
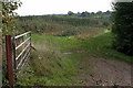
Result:
M114 58L80 59L78 80L82 86L131 86L131 65Z

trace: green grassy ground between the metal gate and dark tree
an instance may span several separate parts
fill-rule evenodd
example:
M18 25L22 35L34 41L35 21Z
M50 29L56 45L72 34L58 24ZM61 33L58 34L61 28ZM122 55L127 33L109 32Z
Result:
M79 36L79 37L82 37ZM112 33L99 32L84 40L75 36L51 36L32 34L32 51L29 65L18 75L22 86L72 86L76 80L78 59L91 57L116 58L131 62L126 56L112 50Z

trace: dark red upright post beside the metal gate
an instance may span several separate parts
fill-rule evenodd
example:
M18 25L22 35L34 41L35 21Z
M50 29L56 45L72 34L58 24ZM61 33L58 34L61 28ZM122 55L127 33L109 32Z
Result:
M12 67L12 52L11 52L11 35L6 35L6 51L7 51L7 66L9 86L13 86L13 67Z

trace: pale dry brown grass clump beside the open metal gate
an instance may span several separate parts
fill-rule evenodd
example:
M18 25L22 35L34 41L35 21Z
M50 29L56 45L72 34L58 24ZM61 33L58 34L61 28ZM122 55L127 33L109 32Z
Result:
M37 52L32 52L32 66L38 69L35 70L39 75L50 75L51 74L51 66L59 58L60 52L59 48L55 46L54 43L50 41L38 41L33 43L33 47L37 48Z

